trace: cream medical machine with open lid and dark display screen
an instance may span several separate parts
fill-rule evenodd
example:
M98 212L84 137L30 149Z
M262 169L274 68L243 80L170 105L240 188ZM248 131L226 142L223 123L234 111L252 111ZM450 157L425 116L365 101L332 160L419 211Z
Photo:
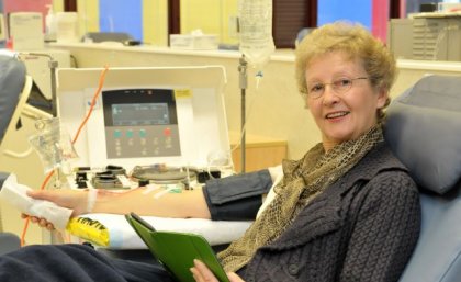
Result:
M223 67L111 68L101 82L103 70L58 70L64 132L74 136L93 103L74 144L71 187L188 182L188 188L191 180L233 170Z

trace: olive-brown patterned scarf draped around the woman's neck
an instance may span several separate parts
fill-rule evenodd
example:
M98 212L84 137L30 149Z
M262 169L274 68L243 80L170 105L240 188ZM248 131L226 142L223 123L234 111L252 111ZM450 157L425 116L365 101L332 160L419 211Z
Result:
M283 180L274 188L273 201L241 238L218 253L224 269L237 271L247 264L258 248L276 240L312 199L346 174L381 140L382 128L376 125L326 154L323 145L317 144L302 159L284 160Z

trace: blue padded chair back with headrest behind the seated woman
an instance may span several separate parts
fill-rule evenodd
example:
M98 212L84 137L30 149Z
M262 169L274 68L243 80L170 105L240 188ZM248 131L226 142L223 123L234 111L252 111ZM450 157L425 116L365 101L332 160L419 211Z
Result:
M421 233L400 282L461 281L461 77L420 79L390 105L384 136L421 192Z

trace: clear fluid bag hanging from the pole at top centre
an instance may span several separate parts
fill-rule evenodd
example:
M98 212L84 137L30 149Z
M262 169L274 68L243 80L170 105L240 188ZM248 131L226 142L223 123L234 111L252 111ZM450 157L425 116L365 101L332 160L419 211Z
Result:
M257 69L276 49L272 38L272 0L239 0L240 52Z

